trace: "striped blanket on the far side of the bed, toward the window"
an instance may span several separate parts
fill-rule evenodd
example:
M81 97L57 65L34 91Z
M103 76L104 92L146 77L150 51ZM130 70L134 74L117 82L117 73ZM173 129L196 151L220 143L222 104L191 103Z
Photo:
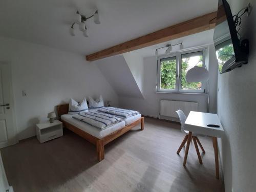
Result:
M122 118L122 119L126 119L128 117L132 117L134 115L138 115L139 112L137 111L132 111L132 110L124 110L124 109L120 109L120 108L113 108L111 106L108 107L103 107L98 109L99 112L104 112L107 114L111 114L111 115L115 115L116 117Z

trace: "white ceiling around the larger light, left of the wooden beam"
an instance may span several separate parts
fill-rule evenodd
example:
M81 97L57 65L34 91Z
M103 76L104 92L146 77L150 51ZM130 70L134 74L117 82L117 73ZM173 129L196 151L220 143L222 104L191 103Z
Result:
M217 10L217 0L3 0L0 36L90 54ZM88 22L89 37L69 35L75 12L99 10L100 25Z

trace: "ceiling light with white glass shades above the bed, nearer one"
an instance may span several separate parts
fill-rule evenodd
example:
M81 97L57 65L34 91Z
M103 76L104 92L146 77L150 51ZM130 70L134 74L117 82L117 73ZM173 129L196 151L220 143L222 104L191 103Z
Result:
M85 37L88 37L88 30L87 30L87 27L86 27L86 23L87 23L87 20L89 18L92 18L94 17L94 23L95 24L100 24L100 21L99 21L99 12L98 10L96 10L94 12L93 15L91 15L90 17L86 17L82 14L80 14L78 11L76 12L76 19L75 19L75 22L72 24L71 28L70 28L70 35L71 36L75 36L75 30L74 30L74 25L77 24L79 25L79 29L80 31L83 32L83 36Z

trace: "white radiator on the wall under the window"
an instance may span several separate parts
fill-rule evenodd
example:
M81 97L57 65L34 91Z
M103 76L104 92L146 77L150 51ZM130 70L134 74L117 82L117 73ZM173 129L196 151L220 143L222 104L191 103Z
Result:
M160 100L160 115L178 118L177 110L182 110L186 116L190 111L198 111L197 102Z

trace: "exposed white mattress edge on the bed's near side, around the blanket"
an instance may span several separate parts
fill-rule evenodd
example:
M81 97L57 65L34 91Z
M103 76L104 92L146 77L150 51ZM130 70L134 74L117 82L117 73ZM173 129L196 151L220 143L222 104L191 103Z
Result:
M65 115L61 115L60 118L74 126L76 126L77 128L79 128L80 130L89 133L90 135L97 137L98 139L101 139L107 135L110 135L111 133L122 129L125 126L125 122L121 121L119 123L116 123L112 126L110 126L108 129L105 130L100 130L95 126L91 126L87 123L78 121L77 119L72 118L73 115L70 114L65 114Z

